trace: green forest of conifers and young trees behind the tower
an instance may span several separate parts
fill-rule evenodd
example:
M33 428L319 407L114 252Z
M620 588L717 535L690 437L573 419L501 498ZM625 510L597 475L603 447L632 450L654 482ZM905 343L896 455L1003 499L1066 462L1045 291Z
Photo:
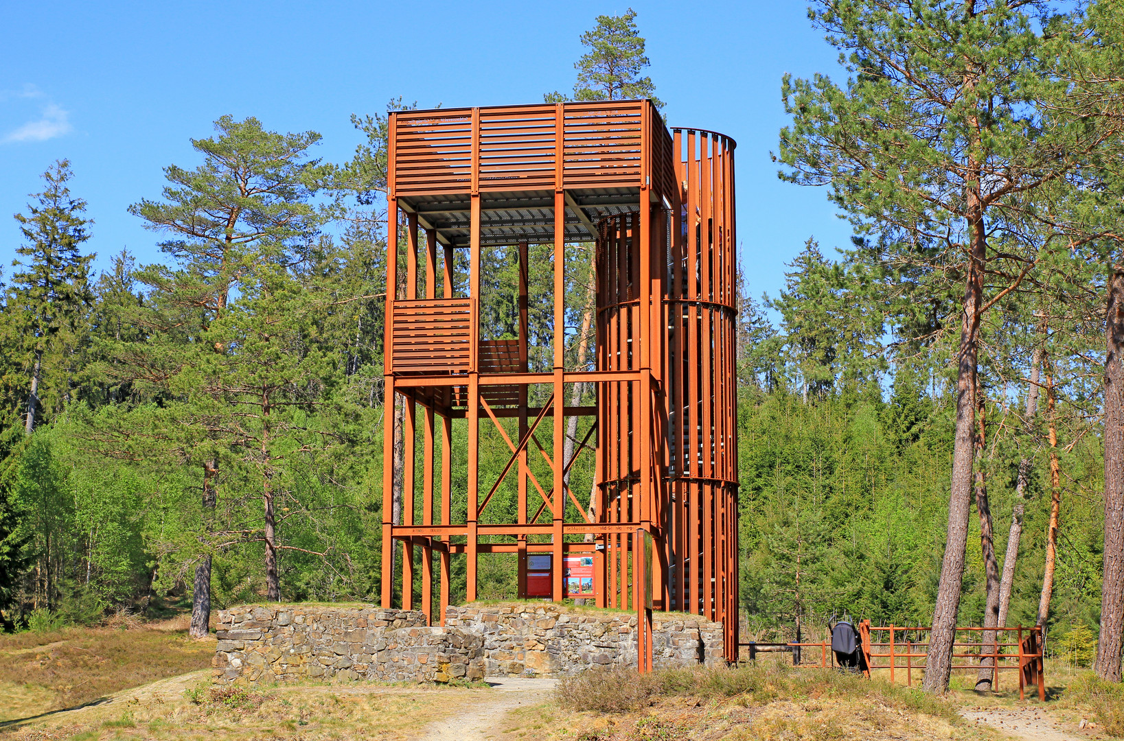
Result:
M874 22L823 12L814 21L841 48L852 44L847 24ZM635 70L615 73L607 86L593 76L605 53L599 39L638 38L633 17L599 19L591 33L604 38L587 43L575 99L651 95L651 81L638 76L642 38L629 54L643 64L634 60ZM1072 31L1059 35L1081 48L1091 37L1089 18L1050 22ZM1000 42L1043 38L1017 13L987 22L1007 34L972 42L991 44L989 54ZM1048 52L1022 53L1045 60ZM622 88L622 79L633 86ZM854 100L863 80L849 83ZM818 136L809 101L831 98L821 82L785 82L795 124L781 132L778 158L782 176L806 184L816 184L807 163L808 141ZM1036 136L1025 126L1013 132L1014 118L996 117L988 145L996 157L1014 157L1019 141ZM18 255L2 276L0 311L7 629L190 606L193 574L208 558L220 607L262 600L271 586L284 601L377 598L383 415L391 413L381 377L387 117L353 122L362 146L350 162L326 163L315 157L315 132L275 132L253 118L216 121L211 136L192 140L194 162L166 167L164 191L129 209L160 243L164 259L154 265L137 265L123 250L94 274L83 243L97 214L71 192L69 163L45 172L2 237ZM1097 182L1109 190L1118 183L1105 174ZM832 198L855 225L853 243L822 249L809 238L783 285L760 298L743 291L738 302L740 604L747 635L788 638L797 623L816 630L844 614L925 625L937 593L963 254L936 237L918 246L916 230L852 209L845 189L834 187ZM1090 208L1067 193L1043 198L1055 211ZM1030 209L1028 201L1018 208ZM886 208L900 216L907 207ZM1000 565L1013 513L1025 510L1007 624L1035 623L1051 497L1060 501L1048 628L1061 640L1051 650L1088 664L1100 610L1103 296L1113 271L1112 248L1090 245L1114 243L1107 227L1075 241L1073 229L1044 218L1016 223L1010 212L997 218L994 254L984 260L989 295L998 295L980 319L976 492L988 495ZM1069 246L1048 254L1059 235ZM741 225L740 243L742 269L752 269L754 250L771 248L754 241L752 225ZM1042 257L1019 258L1031 254L1027 245ZM590 367L593 357L591 330L582 331L592 300L590 253L590 245L566 248L566 326L555 328L551 250L532 246L533 342L547 351L554 332L564 331L570 367ZM1036 266L1025 281L1019 259ZM453 266L460 291L466 269ZM517 337L514 250L489 251L482 276L482 335ZM550 358L533 355L536 363ZM591 388L572 391L592 403ZM490 426L481 431L481 486L490 487L507 448ZM570 433L580 440L584 431ZM547 447L549 437L544 430ZM455 522L464 518L463 463L456 468L463 420L454 441ZM591 461L580 458L571 476L573 491L588 491ZM510 519L514 507L513 479L487 516ZM982 521L973 510L962 625L984 619ZM453 564L455 600L464 594L464 566ZM480 595L515 596L510 558L481 556Z

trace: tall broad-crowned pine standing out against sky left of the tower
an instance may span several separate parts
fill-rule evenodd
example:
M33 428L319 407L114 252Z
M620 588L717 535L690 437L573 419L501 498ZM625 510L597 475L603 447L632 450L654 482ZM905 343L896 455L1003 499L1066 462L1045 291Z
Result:
M155 381L154 393L184 400L188 427L183 434L199 442L190 457L202 473L205 522L214 518L220 460L245 459L247 438L233 433L227 423L241 412L228 386L198 374L205 368L217 372L228 358L255 363L252 355L238 353L237 344L247 338L239 337L228 321L232 292L253 295L263 274L283 272L285 265L299 262L328 216L310 199L332 172L308 157L309 148L320 139L314 131L277 134L263 129L255 118L236 121L229 116L219 118L215 128L217 137L191 141L203 164L194 170L165 167L169 185L163 199L129 207L147 228L171 235L161 249L175 266L149 265L138 272L153 301L143 318L152 332L143 347L121 348L119 358L125 363L118 369L123 377ZM268 593L279 600L268 464L260 472L266 481L264 525L248 539L264 540ZM206 634L210 612L211 545L201 543L201 548L194 575L193 635Z

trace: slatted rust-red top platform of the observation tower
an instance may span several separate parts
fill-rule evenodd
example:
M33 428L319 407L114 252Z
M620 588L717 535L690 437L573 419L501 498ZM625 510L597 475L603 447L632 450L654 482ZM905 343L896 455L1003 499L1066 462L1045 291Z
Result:
M674 201L672 138L649 100L543 103L390 115L390 198L442 244L466 247L480 196L483 245L554 238L554 193L566 193L565 238L596 238L641 191Z

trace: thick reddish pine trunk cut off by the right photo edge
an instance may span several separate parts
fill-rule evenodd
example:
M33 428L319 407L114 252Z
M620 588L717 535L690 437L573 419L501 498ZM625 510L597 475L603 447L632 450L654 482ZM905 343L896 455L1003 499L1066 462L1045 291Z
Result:
M1114 265L1105 319L1105 550L1097 676L1121 680L1124 639L1124 266Z

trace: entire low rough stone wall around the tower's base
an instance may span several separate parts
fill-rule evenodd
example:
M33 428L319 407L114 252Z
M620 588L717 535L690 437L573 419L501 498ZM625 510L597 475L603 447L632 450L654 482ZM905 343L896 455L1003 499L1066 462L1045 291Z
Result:
M724 662L722 623L653 620L656 668ZM444 628L418 611L250 605L219 612L217 680L308 678L447 683L561 677L636 666L636 615L553 603L450 606Z

